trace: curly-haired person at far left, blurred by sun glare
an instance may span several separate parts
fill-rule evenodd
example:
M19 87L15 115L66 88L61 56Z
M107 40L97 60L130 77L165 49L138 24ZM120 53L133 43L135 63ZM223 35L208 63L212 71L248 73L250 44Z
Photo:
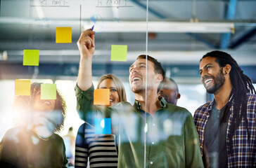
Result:
M63 139L53 133L62 129L66 114L60 92L56 99L41 99L41 83L33 83L30 96L15 97L13 111L18 126L0 143L0 167L66 167Z

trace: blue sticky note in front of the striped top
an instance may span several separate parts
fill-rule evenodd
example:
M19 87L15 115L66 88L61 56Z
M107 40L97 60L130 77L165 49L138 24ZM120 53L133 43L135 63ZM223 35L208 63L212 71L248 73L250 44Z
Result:
M95 134L111 134L110 118L94 118Z

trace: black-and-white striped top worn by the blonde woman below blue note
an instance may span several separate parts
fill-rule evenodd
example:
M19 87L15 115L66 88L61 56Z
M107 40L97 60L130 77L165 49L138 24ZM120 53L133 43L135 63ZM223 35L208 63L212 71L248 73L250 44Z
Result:
M94 127L84 123L75 142L75 167L117 167L115 135L94 134Z

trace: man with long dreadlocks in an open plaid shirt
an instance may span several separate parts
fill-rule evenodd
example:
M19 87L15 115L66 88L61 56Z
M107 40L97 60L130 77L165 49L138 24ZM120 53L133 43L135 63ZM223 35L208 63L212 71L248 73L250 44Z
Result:
M252 81L231 55L217 50L200 59L199 73L207 92L214 94L194 115L203 158L210 167L256 167Z

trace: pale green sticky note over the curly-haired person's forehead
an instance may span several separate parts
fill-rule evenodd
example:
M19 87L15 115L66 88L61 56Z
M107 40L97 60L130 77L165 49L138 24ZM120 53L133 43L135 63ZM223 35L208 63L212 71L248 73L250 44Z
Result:
M56 84L41 84L41 99L56 99Z

